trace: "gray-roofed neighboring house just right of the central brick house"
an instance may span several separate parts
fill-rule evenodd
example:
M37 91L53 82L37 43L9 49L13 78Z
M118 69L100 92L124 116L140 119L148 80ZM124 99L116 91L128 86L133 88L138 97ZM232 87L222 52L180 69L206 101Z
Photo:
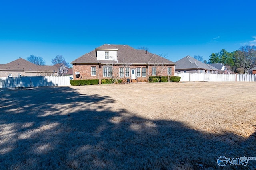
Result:
M191 56L186 56L178 61L175 66L175 72L191 72L191 73L218 73L218 69L209 64L202 63Z

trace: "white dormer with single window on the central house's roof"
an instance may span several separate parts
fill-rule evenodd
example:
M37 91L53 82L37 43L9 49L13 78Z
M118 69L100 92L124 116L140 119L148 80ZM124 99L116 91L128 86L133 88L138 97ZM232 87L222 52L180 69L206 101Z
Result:
M95 49L97 60L117 61L118 49Z

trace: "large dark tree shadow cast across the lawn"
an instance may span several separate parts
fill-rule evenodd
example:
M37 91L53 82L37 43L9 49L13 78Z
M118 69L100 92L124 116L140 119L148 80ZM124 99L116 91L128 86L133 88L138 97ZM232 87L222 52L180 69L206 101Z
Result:
M170 120L113 111L109 96L70 87L13 88L0 96L0 169L248 169L256 133L202 133Z

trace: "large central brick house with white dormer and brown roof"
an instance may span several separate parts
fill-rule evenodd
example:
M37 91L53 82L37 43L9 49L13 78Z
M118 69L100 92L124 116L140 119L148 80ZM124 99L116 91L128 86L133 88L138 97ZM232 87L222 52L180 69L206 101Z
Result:
M147 82L149 76L174 76L175 63L128 45L104 44L71 62L74 80L110 79Z

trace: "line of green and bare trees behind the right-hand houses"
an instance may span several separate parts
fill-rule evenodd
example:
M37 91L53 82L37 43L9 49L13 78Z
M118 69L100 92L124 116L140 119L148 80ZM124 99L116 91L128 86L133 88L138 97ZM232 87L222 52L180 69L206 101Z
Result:
M209 61L203 61L203 57L195 55L194 58L204 63L222 63L233 72L248 73L248 70L256 66L256 46L246 45L240 49L228 52L225 49L220 50L219 53L212 53Z

